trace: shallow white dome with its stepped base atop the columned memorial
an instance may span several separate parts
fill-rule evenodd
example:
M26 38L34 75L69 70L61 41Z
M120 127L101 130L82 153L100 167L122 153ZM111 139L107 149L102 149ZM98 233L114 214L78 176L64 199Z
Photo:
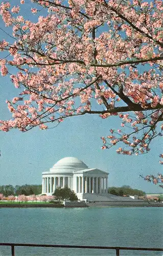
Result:
M88 166L76 157L64 157L53 165L51 172L73 173L75 170L86 169Z

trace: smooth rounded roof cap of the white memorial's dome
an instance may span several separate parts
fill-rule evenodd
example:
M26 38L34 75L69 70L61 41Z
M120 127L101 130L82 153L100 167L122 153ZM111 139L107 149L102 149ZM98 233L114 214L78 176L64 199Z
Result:
M80 169L85 169L88 168L88 166L83 163L81 160L79 160L76 157L64 157L60 159L57 163L54 164L53 168L64 168L64 169L69 169L69 168L80 168Z

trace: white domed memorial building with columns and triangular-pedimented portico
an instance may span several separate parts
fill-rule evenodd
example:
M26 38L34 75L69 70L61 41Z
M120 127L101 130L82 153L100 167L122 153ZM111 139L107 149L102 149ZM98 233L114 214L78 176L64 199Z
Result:
M86 195L107 193L108 173L88 166L76 157L64 157L42 173L42 194L52 195L58 187L69 187L78 199Z

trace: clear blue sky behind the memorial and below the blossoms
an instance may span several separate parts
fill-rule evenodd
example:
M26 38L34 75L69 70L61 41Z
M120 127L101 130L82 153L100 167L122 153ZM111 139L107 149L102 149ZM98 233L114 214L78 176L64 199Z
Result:
M14 1L14 4L19 4L19 1ZM28 8L31 8L29 1ZM25 11L27 13L26 8ZM2 20L0 27L4 28ZM1 34L0 40L2 38L6 38L6 35ZM0 119L4 120L11 118L5 101L17 96L19 89L14 88L9 77L1 76L0 87ZM46 131L36 128L26 133L18 130L0 132L0 185L41 184L43 171L51 168L61 158L73 156L89 167L109 172L109 186L130 185L147 193L161 193L162 189L158 186L138 178L140 174L161 172L158 157L162 153L160 138L152 142L148 154L141 156L118 155L115 152L116 146L110 150L101 150L100 137L108 135L110 128L118 129L119 124L117 117L101 119L98 115L86 115L67 118L55 129Z

